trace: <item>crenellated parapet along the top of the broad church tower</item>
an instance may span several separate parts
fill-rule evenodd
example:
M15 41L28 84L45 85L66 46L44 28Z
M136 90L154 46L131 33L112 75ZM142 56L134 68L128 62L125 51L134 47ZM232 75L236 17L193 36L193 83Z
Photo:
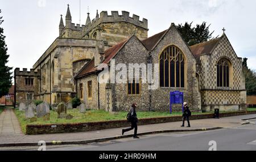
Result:
M137 27L141 27L143 29L148 29L148 21L147 19L139 20L138 15L134 15L133 17L130 17L130 13L127 11L122 11L122 14L119 15L118 11L111 11L111 15L108 15L107 11L102 11L100 13L100 18L96 18L92 20L92 23L85 25L85 27L82 29L82 37L84 37L87 33L92 31L94 28L96 28L101 23L130 23Z

